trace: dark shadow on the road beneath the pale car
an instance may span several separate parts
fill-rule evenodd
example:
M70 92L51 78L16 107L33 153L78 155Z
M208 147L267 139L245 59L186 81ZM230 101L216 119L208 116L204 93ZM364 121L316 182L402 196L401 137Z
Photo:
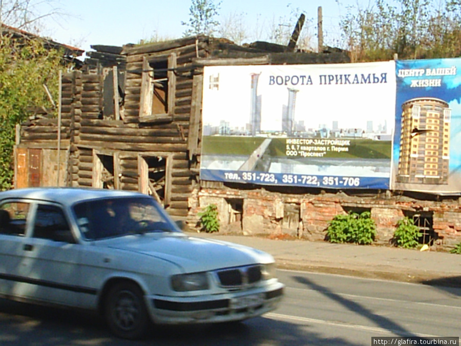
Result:
M353 346L340 337L309 332L306 323L257 317L245 322L185 326L154 326L145 340L114 338L97 315L0 299L2 346L229 345L229 346Z

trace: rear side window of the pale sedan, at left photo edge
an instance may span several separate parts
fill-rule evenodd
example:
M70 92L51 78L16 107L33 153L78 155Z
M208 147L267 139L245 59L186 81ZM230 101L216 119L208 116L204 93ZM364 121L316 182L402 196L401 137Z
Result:
M16 201L0 206L0 234L24 236L29 207L29 203Z

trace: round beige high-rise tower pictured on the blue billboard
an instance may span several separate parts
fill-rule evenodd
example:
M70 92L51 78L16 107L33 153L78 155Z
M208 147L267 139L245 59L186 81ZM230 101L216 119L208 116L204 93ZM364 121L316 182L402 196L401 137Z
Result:
M444 100L413 98L402 105L396 181L448 184L451 109Z

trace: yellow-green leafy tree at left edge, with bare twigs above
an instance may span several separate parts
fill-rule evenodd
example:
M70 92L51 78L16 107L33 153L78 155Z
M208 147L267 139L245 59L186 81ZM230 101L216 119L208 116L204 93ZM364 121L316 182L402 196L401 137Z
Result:
M37 33L44 18L59 16L55 0L0 0L0 24ZM62 54L46 49L45 40L23 35L13 38L0 27L0 190L13 182L15 127L34 106L51 107L44 85L54 99Z

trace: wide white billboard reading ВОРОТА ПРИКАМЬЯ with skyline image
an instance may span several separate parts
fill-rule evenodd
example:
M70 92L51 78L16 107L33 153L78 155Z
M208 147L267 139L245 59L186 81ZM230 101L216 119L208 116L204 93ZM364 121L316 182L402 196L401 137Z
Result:
M200 178L389 189L395 63L204 68Z

